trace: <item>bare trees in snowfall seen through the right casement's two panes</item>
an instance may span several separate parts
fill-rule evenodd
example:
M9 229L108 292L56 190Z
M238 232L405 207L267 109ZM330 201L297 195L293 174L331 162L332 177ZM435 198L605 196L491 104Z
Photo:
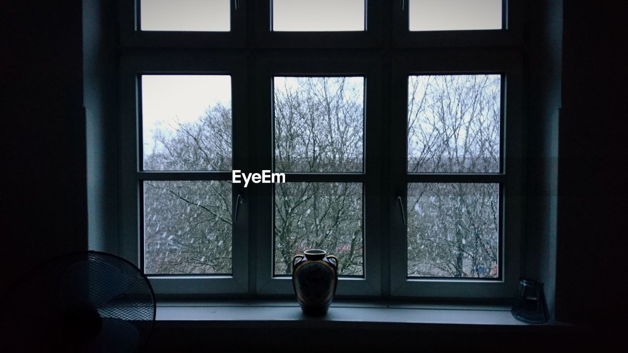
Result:
M408 82L408 171L499 171L499 75L414 76ZM499 188L408 185L408 275L498 274Z

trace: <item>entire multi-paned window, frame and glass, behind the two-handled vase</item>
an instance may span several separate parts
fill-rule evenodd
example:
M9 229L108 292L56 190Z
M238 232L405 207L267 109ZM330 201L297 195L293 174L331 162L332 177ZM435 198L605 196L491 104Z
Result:
M338 296L511 296L519 2L477 2L121 1L120 253L162 296L288 296L313 247Z

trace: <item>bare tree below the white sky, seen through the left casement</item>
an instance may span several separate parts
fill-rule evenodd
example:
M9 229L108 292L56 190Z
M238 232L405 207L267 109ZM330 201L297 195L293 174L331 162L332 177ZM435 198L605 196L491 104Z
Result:
M230 170L231 109L217 104L197 121L153 133L147 170ZM224 181L144 183L147 273L231 273L231 185Z

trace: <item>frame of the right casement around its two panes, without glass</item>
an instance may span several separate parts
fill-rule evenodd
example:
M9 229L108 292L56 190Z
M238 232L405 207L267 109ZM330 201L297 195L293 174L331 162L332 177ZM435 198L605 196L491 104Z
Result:
M391 295L424 298L509 298L519 280L521 239L524 229L524 166L522 151L522 60L516 51L500 49L438 50L420 56L396 57L392 66L393 121L391 140L391 187L401 197L407 215L408 183L474 182L499 183L499 268L500 278L408 278L407 227L398 204L390 204ZM501 86L501 141L499 173L408 173L408 76L429 74L499 73ZM404 153L395 153L404 151ZM395 256L397 254L397 256ZM401 254L401 255L399 255Z

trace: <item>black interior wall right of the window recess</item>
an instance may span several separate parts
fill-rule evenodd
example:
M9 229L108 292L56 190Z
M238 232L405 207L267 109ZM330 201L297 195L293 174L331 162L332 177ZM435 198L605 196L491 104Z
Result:
M625 320L625 1L565 1L556 315Z

